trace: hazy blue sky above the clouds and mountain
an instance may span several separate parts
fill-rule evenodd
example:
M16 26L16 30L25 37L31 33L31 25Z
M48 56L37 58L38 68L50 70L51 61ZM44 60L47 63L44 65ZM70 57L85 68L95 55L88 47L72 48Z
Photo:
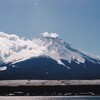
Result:
M100 0L0 0L0 31L29 39L58 33L100 56Z

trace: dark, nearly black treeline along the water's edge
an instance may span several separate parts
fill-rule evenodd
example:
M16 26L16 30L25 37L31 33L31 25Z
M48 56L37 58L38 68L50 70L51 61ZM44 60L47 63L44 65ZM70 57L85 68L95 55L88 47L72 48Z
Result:
M53 96L53 95L100 95L100 85L72 86L18 86L0 87L0 95L8 96Z

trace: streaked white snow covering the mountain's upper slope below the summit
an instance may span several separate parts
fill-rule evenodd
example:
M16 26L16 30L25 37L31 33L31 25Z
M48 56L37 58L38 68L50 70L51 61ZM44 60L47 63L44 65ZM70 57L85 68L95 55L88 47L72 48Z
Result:
M85 59L77 52L69 50L63 41L58 38L45 37L37 42L46 47L46 55L56 60L59 64L66 66L61 59L64 59L71 63L72 60L76 59L77 63L84 63ZM67 66L66 66L67 67ZM68 68L68 67L67 67Z

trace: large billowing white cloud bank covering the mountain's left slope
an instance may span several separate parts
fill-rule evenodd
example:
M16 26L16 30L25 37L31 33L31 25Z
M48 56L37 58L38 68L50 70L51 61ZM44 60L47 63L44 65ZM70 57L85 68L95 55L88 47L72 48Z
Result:
M0 32L0 64L4 62L37 57L43 54L45 48L35 40L20 38L14 34Z

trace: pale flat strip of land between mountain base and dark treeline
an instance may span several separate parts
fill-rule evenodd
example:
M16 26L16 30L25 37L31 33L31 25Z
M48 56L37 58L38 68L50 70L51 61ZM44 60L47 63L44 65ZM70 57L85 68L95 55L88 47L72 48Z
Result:
M1 80L0 86L100 85L100 80Z

